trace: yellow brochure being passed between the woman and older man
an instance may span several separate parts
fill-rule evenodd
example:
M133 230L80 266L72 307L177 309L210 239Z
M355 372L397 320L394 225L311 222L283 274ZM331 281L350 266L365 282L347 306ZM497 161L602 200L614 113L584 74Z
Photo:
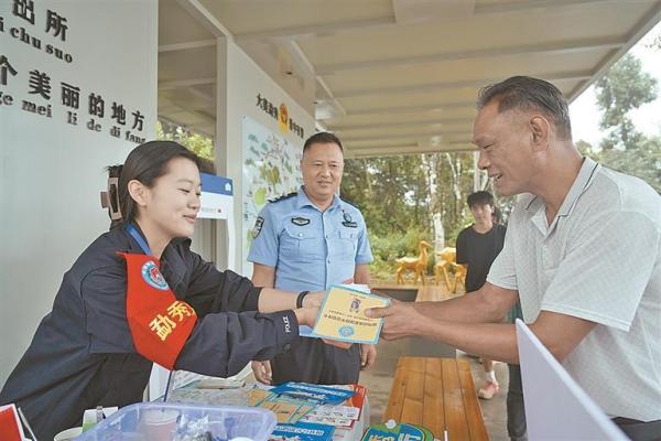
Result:
M384 308L390 300L347 286L333 286L324 300L311 336L349 343L377 344L383 319L365 315L369 308Z

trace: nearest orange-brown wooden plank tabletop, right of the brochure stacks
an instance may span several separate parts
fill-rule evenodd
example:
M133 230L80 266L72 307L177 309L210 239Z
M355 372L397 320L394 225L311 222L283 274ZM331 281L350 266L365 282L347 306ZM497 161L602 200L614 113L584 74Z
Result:
M400 357L383 421L422 424L443 440L488 440L465 359Z

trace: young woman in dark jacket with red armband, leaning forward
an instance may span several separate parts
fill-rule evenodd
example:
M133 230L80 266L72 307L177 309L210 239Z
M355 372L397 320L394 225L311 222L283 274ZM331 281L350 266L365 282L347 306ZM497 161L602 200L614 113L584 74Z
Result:
M122 218L64 275L53 310L0 392L0 404L20 406L41 440L78 424L85 409L141 401L152 362L234 375L288 351L299 324L312 325L317 313L317 294L256 288L191 251L201 192L195 154L176 142L147 142L115 171Z

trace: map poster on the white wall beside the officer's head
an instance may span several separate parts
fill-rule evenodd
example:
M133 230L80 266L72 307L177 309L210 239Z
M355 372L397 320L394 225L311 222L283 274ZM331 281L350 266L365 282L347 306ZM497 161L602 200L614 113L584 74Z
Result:
M303 184L303 147L294 146L259 122L243 117L243 252L242 275L252 275L248 251L252 226L269 200L295 192Z

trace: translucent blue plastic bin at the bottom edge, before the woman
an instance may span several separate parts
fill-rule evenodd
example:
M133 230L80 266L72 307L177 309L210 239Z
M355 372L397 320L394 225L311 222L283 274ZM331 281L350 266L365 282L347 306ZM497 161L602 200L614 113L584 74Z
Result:
M275 415L266 409L141 402L121 408L76 441L171 441L195 435L202 440L213 435L215 440L266 441L274 428Z

